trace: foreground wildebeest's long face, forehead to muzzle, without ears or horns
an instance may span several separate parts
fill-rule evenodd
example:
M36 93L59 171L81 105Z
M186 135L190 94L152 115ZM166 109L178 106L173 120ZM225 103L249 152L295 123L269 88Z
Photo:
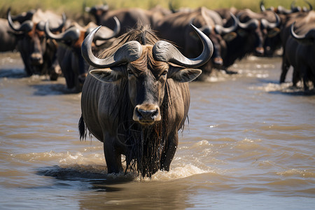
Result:
M153 59L152 46L144 47L142 56L127 65L128 89L130 101L134 106L134 121L151 125L161 120L160 106L165 94L168 67L167 63Z

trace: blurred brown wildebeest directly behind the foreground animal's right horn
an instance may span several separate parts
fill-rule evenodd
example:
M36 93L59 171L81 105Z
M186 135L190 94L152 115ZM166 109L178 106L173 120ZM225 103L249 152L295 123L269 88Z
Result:
M217 16L221 19L219 15ZM214 44L214 55L211 57L211 61L200 67L202 76L199 80L205 80L213 67L218 68L223 64L222 54L226 45L222 36L232 33L237 28L237 19L234 20L234 25L231 27L223 27L223 24L219 25L214 21L212 10L202 7L190 12L177 12L167 15L153 29L157 31L160 38L172 41L179 46L179 50L187 57L196 57L202 52L202 43L195 35L190 24L195 25L209 36Z

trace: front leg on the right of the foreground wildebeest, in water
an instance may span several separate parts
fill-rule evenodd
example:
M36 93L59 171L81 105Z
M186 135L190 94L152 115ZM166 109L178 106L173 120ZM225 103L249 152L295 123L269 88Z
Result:
M172 132L169 134L167 143L167 151L162 153L161 158L161 169L164 169L165 171L169 171L169 165L171 165L171 162L176 153L176 148L179 145L179 135L177 132Z

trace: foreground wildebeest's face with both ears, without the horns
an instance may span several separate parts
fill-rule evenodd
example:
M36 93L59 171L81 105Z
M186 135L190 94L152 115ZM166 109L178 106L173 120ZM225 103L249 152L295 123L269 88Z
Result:
M128 94L133 106L132 119L141 125L153 125L162 120L160 107L165 99L167 79L184 83L197 78L200 69L186 69L153 58L153 46L142 47L141 57L124 66L97 69L90 73L102 82L127 78Z

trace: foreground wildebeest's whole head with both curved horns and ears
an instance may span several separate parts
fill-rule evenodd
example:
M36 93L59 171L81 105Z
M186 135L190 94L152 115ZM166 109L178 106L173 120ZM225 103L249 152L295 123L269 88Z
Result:
M207 63L214 51L211 40L202 31L194 26L193 28L204 45L202 54L194 59L183 56L172 43L158 41L150 31L137 37L140 37L140 40L146 38L144 36L151 37L148 39L151 43L142 45L135 40L123 42L122 45L111 49L110 55L105 54L101 55L103 58L98 58L93 55L91 45L99 28L94 29L85 38L82 55L91 66L97 68L90 71L94 78L105 83L117 82L127 85L127 93L134 109L132 120L141 125L153 125L162 120L160 108L167 101L167 81L185 83L194 80L202 71L188 68ZM123 38L129 38L131 35L126 34Z

